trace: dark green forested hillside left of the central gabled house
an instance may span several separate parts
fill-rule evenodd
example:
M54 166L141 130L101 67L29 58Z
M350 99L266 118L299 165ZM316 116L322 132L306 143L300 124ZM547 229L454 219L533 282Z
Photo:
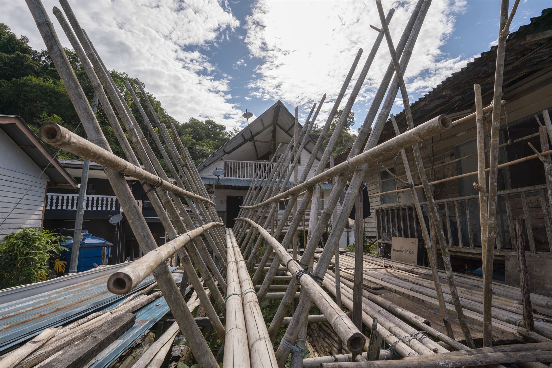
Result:
M73 50L65 49L65 52L75 70L75 74L81 83L88 100L92 102L94 90L86 76L80 62ZM124 72L110 71L117 87L123 94L126 102L131 106L132 114L139 122L142 131L150 141L150 146L157 150L147 126L136 106L131 103L131 96L126 89L125 80L128 78L133 86L141 83L137 78L130 78ZM146 87L144 83L142 86ZM135 88L137 89L137 88ZM141 96L142 106L146 106ZM196 164L203 161L210 153L214 152L233 134L227 131L224 125L217 124L213 120L198 120L190 118L187 122L181 123L168 115L161 103L148 94L153 108L161 120L164 116L174 122L182 142L189 148L190 154ZM147 109L146 109L147 110ZM33 50L29 46L29 40L25 36L17 38L9 26L0 23L0 114L21 115L32 129L38 133L40 125L45 122L56 122L67 129L74 130L79 125L79 119L71 101L67 95L63 83L45 50ZM119 143L117 142L112 128L105 119L101 105L98 105L97 118L102 126L105 137L109 141L114 153L124 157ZM150 116L150 120L152 120ZM123 127L124 129L124 127ZM75 132L78 135L86 136L84 129L78 126ZM57 150L50 147L52 152ZM156 152L159 153L159 152ZM159 153L157 157L161 157ZM67 152L60 152L60 159L79 159ZM162 162L164 164L164 162ZM169 170L167 169L167 172Z

